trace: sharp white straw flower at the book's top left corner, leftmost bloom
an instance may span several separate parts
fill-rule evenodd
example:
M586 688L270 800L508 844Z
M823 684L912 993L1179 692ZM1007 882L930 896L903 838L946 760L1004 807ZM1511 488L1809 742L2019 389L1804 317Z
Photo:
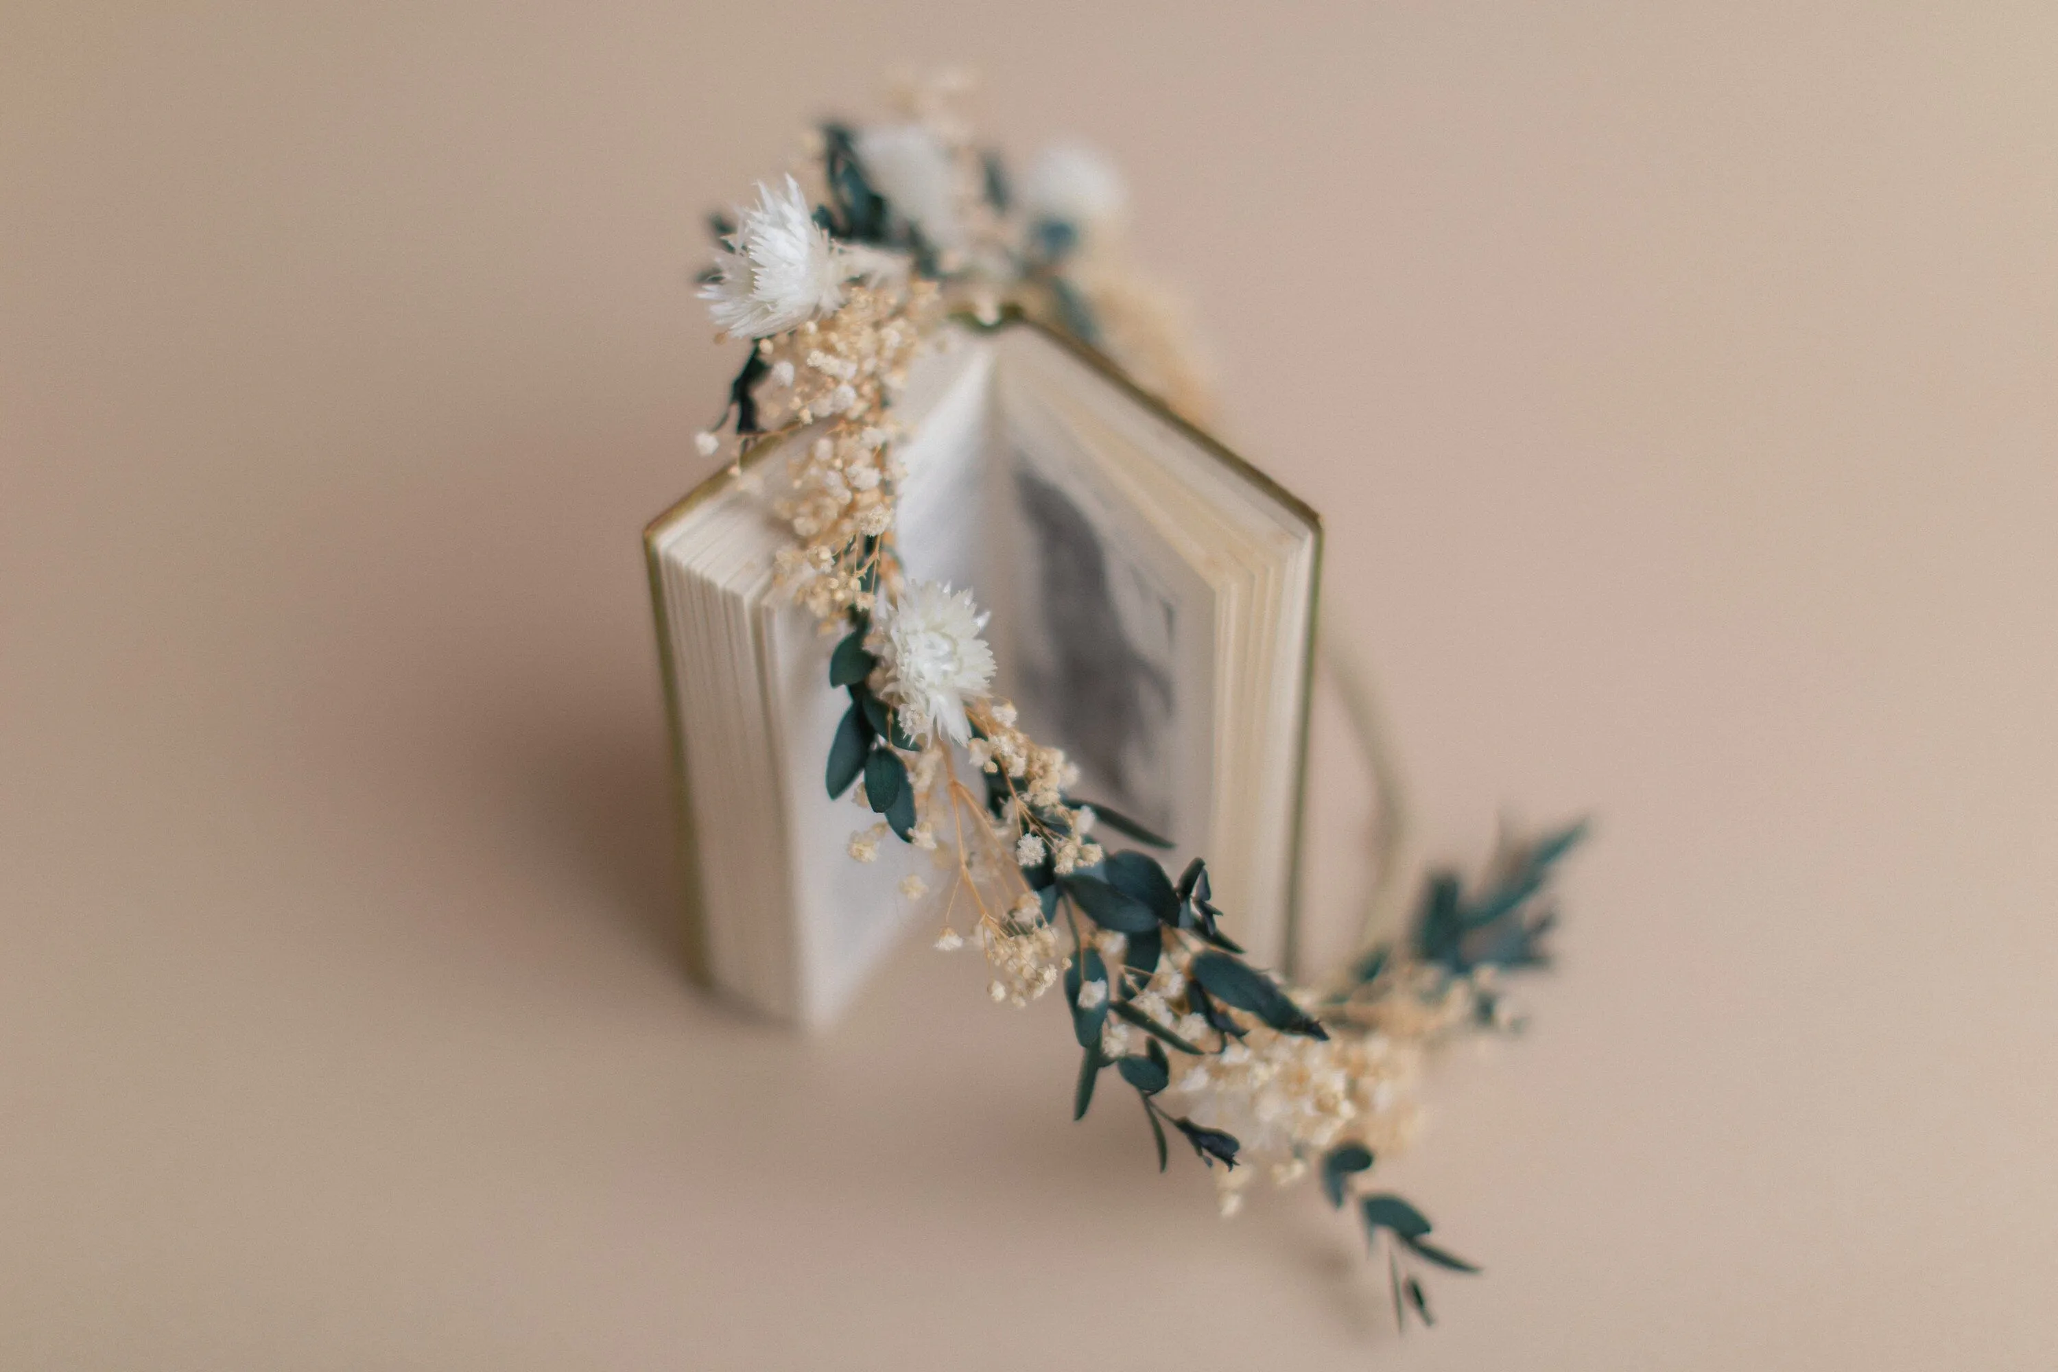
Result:
M799 181L786 177L784 193L759 181L757 206L737 210L737 220L735 251L714 255L716 276L700 288L720 329L766 337L844 304L844 282L858 267L813 220Z

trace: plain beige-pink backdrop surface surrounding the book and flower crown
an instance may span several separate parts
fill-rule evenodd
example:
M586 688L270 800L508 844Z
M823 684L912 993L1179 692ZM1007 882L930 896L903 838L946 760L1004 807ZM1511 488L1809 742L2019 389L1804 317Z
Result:
M2058 1366L2058 10L0 12L0 1366ZM1527 1043L1212 1218L910 946L669 959L700 214L897 60L1113 150ZM1329 738L1336 738L1334 734ZM1323 782L1332 829L1356 792ZM1334 878L1344 880L1344 878ZM1327 891L1342 903L1342 887Z

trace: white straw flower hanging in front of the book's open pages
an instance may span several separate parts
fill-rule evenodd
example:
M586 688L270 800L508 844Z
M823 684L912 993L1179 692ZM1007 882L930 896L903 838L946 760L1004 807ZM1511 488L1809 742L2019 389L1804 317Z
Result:
M873 617L885 685L879 695L899 710L901 728L914 738L941 730L955 743L971 738L965 699L986 693L994 679L994 650L980 638L986 615L969 590L936 582L908 582L897 601Z

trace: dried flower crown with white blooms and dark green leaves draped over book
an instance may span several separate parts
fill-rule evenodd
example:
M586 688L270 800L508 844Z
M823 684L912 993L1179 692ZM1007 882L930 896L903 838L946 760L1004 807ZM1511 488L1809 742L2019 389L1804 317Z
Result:
M1185 418L1204 418L1206 383L1175 309L1124 259L1120 175L1060 146L1015 181L949 95L949 82L908 91L891 123L823 123L801 167L819 193L786 175L714 216L700 278L722 335L751 339L700 455L755 481L753 446L817 432L776 498L794 535L776 572L838 638L827 685L850 708L825 786L877 815L850 856L877 860L889 835L934 854L941 889L908 876L901 893L934 901L938 950L980 946L994 1002L1027 1006L1062 983L1080 1049L1074 1119L1113 1068L1159 1170L1177 1135L1214 1168L1225 1216L1257 1170L1278 1185L1317 1177L1385 1251L1395 1321L1428 1323L1418 1267L1478 1269L1367 1181L1414 1133L1424 1049L1519 1024L1498 975L1546 963L1543 889L1583 827L1504 843L1474 889L1430 874L1401 938L1367 944L1323 987L1284 985L1243 959L1204 860L1167 872L1146 852L1167 839L1078 798L1066 755L1017 728L990 691L971 590L901 572L895 397L910 364L949 319L1013 311L1105 352ZM1115 835L1136 847L1111 852Z

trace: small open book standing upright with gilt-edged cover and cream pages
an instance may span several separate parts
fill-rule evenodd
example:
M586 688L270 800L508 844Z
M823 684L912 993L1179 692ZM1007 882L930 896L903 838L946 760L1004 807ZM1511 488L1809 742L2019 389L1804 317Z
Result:
M1097 356L1031 323L953 329L895 403L910 576L992 613L994 693L1080 767L1074 800L1208 858L1257 965L1290 954L1321 522ZM780 1018L819 1024L914 909L930 854L831 800L848 701L833 640L780 594L770 510L803 432L710 477L644 531L673 736L687 961ZM1109 850L1120 833L1097 831ZM930 897L934 901L938 897Z

